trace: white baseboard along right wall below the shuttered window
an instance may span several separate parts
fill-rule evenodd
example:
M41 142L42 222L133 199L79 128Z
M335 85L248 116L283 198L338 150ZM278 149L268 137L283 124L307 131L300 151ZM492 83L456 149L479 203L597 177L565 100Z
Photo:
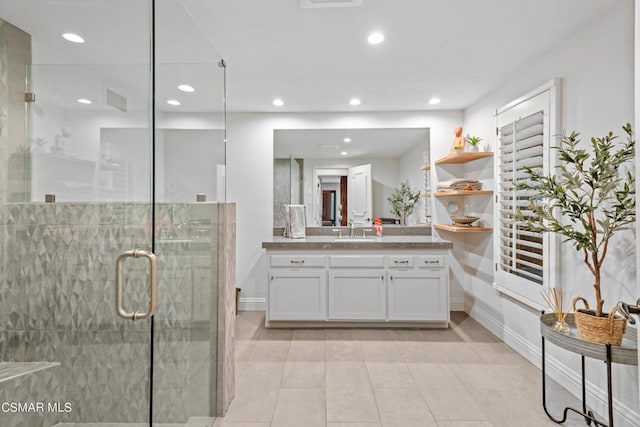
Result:
M509 347L513 348L522 357L529 362L541 367L542 354L540 343L532 343L524 339L521 335L517 334L512 329L506 327L499 319L491 316L489 313L478 309L476 306L465 304L465 312L467 312L474 320L488 329L495 336L500 338ZM579 367L569 367L566 364L558 361L554 357L547 356L546 358L546 371L550 378L553 378L559 384L562 384L571 394L581 399L582 385ZM606 416L607 414L607 391L596 387L593 383L587 380L587 402L589 407L595 409L598 414ZM640 419L640 412L634 410L624 403L618 401L614 395L613 398L614 418L616 419L616 425L637 425L637 420ZM622 421L624 420L624 424Z

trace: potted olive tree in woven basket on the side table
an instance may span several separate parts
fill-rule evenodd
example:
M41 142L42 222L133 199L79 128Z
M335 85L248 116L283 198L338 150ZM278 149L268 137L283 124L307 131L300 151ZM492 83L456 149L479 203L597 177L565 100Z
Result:
M528 179L517 183L521 190L536 194L531 197L531 214L521 211L516 219L526 229L557 233L584 255L584 263L593 275L595 310L589 309L583 297L574 299L575 320L581 338L620 345L626 319L603 311L601 271L611 238L635 221L635 177L627 169L635 157L635 138L630 124L622 127L626 141L609 132L602 138L591 138L591 150L580 147L579 133L563 135L559 152L558 173L543 174L528 168ZM601 330L602 328L602 330Z

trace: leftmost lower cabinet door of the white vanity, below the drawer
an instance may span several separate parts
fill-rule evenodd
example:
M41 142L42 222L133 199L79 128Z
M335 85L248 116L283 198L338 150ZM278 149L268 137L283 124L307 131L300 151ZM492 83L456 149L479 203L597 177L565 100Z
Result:
M324 269L271 269L268 320L326 320Z

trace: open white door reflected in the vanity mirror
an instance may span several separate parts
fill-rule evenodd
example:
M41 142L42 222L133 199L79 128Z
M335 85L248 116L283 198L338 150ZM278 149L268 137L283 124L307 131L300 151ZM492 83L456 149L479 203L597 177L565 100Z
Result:
M355 225L371 225L373 201L371 164L349 168L347 181L347 218Z

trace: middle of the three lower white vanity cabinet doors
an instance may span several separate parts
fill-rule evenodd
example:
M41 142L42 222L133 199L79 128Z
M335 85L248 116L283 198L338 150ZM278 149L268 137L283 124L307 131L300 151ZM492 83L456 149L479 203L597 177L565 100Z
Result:
M329 319L386 319L383 269L335 269L329 272Z

